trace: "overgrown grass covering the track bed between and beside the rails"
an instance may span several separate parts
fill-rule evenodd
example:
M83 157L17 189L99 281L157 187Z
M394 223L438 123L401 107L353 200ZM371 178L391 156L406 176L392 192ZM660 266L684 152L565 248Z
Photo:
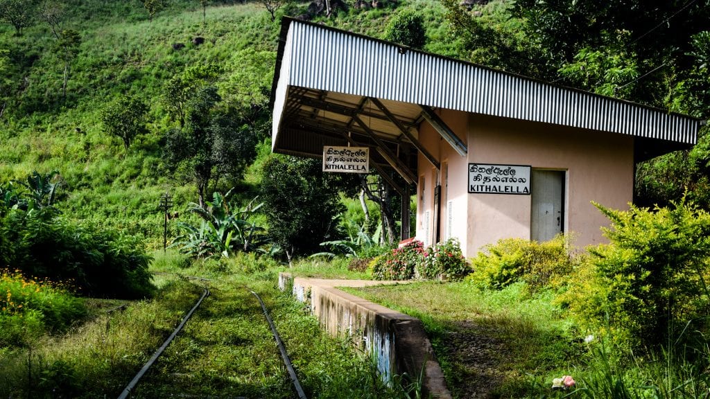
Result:
M132 398L293 398L268 323L247 287L266 302L309 398L406 398L383 386L368 359L327 336L302 304L278 290L280 270L253 256L190 261L155 253L158 292L151 300L125 302L125 310L107 314L120 302L87 299L90 316L83 324L0 349L0 397L116 397L207 285L211 295Z

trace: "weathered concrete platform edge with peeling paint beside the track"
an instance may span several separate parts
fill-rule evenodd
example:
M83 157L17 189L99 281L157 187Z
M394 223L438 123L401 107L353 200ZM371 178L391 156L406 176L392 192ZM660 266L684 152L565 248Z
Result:
M366 280L292 278L280 273L279 288L291 290L310 305L321 325L334 337L351 339L375 359L383 381L407 373L417 378L424 371L422 390L434 398L451 398L422 322L369 302L335 287L382 284Z

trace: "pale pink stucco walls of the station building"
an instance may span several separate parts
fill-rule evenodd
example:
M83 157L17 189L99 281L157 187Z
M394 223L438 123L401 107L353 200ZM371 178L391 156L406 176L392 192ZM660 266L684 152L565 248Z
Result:
M633 138L614 133L565 128L493 116L442 111L440 114L457 136L466 142L467 157L458 155L428 124L420 128L420 141L448 168L448 187L443 173L441 238L447 236L447 200L452 201L452 236L461 241L467 257L498 239L530 239L529 195L468 193L468 164L531 165L532 169L564 170L567 233L583 247L606 242L601 226L608 219L592 201L614 209L627 209L633 197ZM425 179L426 200L417 202L417 239L424 239L427 210L433 220L435 169L420 155L420 176ZM442 168L444 170L444 168ZM421 190L421 187L419 187ZM417 193L417 198L420 197ZM433 232L430 242L435 240Z

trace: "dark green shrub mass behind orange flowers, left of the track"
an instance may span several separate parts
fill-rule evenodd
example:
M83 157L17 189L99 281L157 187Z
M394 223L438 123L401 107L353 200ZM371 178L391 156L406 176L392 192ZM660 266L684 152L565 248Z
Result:
M70 283L84 295L140 298L153 293L140 240L118 231L80 225L51 207L0 217L0 231L13 243L1 261L35 278Z

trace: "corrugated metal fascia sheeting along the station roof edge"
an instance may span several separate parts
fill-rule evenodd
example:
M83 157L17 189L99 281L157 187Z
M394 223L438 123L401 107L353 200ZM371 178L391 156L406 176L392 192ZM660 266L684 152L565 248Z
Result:
M274 136L288 86L694 144L698 119L286 19Z

